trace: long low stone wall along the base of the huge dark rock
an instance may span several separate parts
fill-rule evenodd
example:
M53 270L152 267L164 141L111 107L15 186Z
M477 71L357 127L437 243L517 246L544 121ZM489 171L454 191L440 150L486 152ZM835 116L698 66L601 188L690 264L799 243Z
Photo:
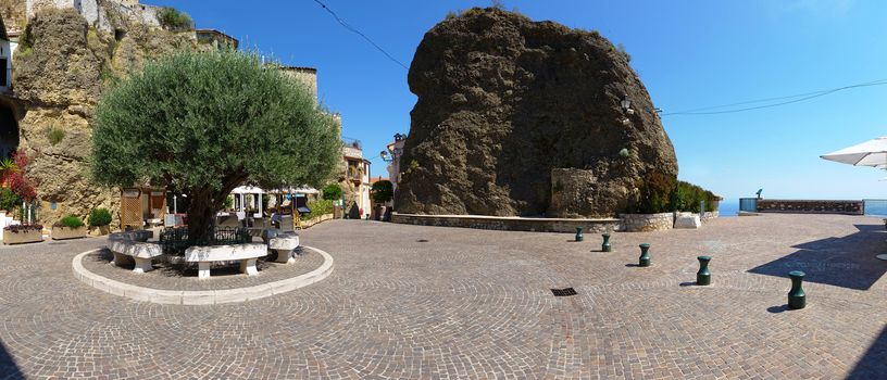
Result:
M500 231L535 231L576 233L583 227L586 233L621 229L619 219L522 218L486 215L416 215L391 213L391 221L404 225L464 227Z

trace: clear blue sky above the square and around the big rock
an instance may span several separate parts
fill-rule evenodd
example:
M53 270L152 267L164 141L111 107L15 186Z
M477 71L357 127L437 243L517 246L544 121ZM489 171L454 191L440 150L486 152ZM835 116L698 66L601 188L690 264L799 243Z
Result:
M409 66L448 11L489 1L322 0ZM286 64L318 69L322 102L363 142L374 176L396 132L410 129L407 71L339 26L313 0L170 1L198 27L222 29ZM248 3L249 7L243 4ZM632 54L665 113L887 79L885 1L504 1L534 20L597 29ZM887 86L785 106L663 116L679 177L728 199L887 198L887 172L819 157L887 135Z

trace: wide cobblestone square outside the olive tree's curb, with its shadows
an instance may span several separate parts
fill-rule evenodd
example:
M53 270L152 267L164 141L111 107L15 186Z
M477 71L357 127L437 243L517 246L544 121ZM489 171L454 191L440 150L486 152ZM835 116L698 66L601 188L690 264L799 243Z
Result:
M103 244L0 250L11 378L878 378L887 376L879 219L764 215L701 230L500 232L334 220L301 235L336 269L234 305L139 303L79 283ZM638 243L653 266L636 267ZM695 287L696 256L713 257ZM786 309L802 269L808 307ZM551 288L573 287L555 297ZM0 376L2 378L2 376Z

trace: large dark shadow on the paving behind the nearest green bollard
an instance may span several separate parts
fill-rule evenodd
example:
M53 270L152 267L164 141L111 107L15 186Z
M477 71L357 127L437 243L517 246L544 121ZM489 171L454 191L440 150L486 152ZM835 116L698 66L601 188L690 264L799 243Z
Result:
M858 232L842 238L795 245L797 252L749 273L788 278L789 271L801 270L804 281L867 290L887 271L887 261L875 258L887 252L887 231L877 225L855 227Z

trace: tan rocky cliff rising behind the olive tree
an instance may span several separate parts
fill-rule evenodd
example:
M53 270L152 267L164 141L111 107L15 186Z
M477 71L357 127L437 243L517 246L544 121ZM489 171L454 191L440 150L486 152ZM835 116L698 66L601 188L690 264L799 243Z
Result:
M89 182L96 103L146 60L197 43L193 34L150 28L112 8L102 11L115 33L96 29L73 9L37 13L14 55L13 97L24 109L18 148L34 159L27 175L38 185L43 223L66 214L86 216L98 206L111 208L116 223L120 192ZM55 210L50 202L57 202Z

